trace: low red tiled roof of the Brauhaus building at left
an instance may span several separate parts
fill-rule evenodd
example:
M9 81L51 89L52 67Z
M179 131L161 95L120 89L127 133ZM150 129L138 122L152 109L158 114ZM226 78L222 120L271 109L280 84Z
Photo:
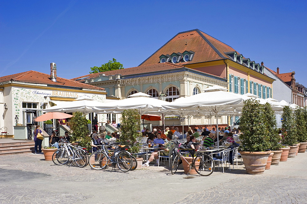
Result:
M85 89L98 89L104 90L103 88L80 83L74 80L65 79L61 77L56 77L56 82L51 81L49 74L44 74L37 71L26 71L21 72L18 74L12 74L0 77L0 82L5 81L22 81L22 82L29 82L29 83L36 83L36 84L48 84L48 85L62 85L62 86L71 86L71 87L78 87L78 88L85 88Z

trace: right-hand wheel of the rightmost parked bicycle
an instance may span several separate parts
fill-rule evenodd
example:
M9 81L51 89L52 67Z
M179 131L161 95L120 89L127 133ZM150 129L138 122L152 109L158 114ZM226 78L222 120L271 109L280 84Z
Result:
M193 161L196 172L200 176L209 176L215 169L215 164L208 154L198 155Z

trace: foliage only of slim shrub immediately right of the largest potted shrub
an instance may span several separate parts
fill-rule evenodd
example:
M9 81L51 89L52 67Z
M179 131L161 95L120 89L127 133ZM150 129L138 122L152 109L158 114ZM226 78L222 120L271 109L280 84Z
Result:
M269 103L263 105L263 123L266 126L264 130L265 134L268 136L270 150L276 151L282 147L280 144L282 137L278 134L276 116Z

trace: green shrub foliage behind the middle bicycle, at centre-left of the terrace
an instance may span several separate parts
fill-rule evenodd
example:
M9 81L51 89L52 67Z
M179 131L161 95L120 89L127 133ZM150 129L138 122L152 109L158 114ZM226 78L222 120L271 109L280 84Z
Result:
M138 133L140 127L140 114L136 109L124 110L120 121L120 130L122 133L120 142L130 146L129 152L134 154L138 153L140 144L137 142L136 138L141 136L141 134Z

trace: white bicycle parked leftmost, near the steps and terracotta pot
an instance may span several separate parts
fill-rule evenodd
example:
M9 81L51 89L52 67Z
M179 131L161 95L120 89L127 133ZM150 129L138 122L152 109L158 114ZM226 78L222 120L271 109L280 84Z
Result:
M70 160L73 161L72 164L76 163L78 167L85 167L88 162L87 152L81 147L63 142L61 143L61 149L53 153L52 161L56 165L64 165Z

